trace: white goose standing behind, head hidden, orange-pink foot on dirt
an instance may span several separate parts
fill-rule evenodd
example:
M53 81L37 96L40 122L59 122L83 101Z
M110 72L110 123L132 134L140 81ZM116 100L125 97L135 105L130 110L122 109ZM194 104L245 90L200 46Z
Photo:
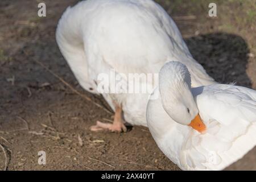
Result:
M151 0L79 2L61 16L56 40L80 85L88 92L99 94L100 73L109 73L110 69L126 75L158 73L167 60L187 65L192 86L214 83L189 53L174 21ZM97 122L92 130L126 130L122 111L126 122L147 125L148 94L102 95L115 110L114 123Z

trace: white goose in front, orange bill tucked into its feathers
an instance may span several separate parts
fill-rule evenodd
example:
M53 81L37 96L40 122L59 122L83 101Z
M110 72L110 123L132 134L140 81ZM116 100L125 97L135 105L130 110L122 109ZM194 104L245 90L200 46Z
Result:
M171 61L160 70L154 92L159 97L148 101L148 128L181 169L220 170L256 145L255 90L224 84L191 88L187 67Z

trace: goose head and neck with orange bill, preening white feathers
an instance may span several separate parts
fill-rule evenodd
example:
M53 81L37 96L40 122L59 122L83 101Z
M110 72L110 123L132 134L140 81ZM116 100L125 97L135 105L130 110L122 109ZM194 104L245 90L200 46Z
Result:
M191 93L188 68L177 61L164 64L159 72L159 93L163 109L177 123L203 133L206 129Z

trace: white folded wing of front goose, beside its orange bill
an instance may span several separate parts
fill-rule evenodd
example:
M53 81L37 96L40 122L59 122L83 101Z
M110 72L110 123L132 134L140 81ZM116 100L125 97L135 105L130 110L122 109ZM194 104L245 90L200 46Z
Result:
M196 102L208 129L205 134L191 131L181 152L187 169L224 169L256 145L255 90L204 86Z

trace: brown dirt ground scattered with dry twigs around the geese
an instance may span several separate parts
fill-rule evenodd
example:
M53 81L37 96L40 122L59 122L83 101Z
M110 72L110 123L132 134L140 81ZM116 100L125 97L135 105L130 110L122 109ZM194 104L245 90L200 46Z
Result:
M112 114L94 104L108 107L101 97L77 84L55 42L61 13L77 1L42 1L47 6L43 18L37 16L39 2L0 1L0 144L7 169L179 170L144 127L121 134L89 130ZM256 1L217 1L217 18L208 16L207 1L158 2L174 17L192 55L210 76L256 88L256 28L251 21ZM73 93L35 60L92 101ZM39 151L46 152L46 165L38 164ZM1 148L0 168L5 168ZM256 149L228 169L256 169Z

